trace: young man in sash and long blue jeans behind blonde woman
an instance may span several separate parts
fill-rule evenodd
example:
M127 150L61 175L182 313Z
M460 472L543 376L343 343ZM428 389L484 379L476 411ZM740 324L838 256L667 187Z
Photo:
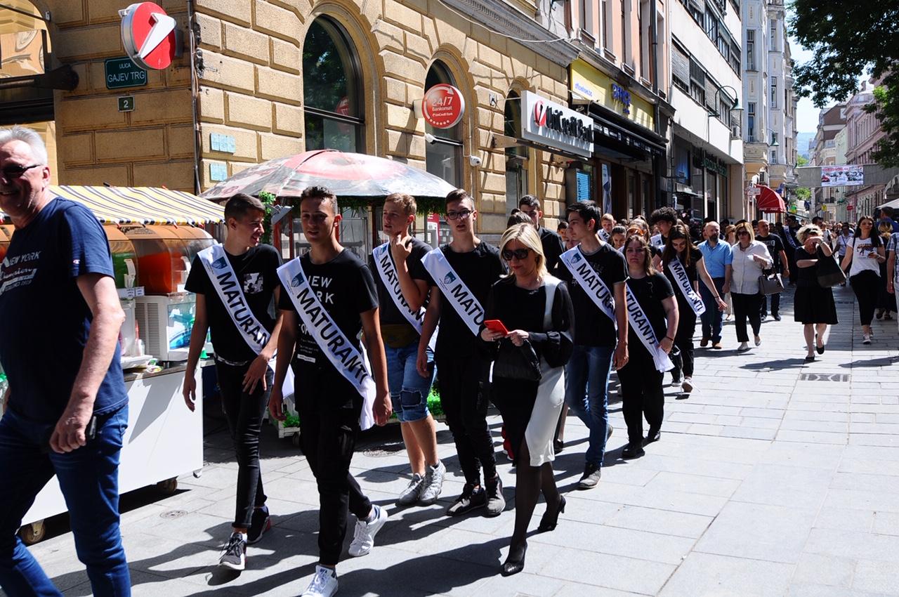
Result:
M601 240L597 233L600 211L593 201L578 201L566 209L568 235L580 242L583 258L615 299L612 321L578 283L563 263L559 278L568 282L574 305L574 352L565 365L565 403L590 430L590 443L579 489L596 486L601 477L609 424L609 374L611 367L628 362L628 307L625 281L628 265L624 255ZM616 331L616 325L618 330Z

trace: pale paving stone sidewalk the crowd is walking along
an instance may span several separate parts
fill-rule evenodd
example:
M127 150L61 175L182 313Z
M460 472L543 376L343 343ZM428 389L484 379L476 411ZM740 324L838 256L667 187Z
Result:
M784 320L762 326L759 348L737 354L697 347L696 389L667 388L662 441L642 459L619 458L620 404L601 483L575 485L586 430L569 417L556 459L568 506L554 532L533 534L520 575L497 574L514 518L515 477L490 417L506 512L450 519L443 512L463 480L440 427L449 468L443 499L397 508L408 465L395 426L363 434L352 472L390 521L367 557L339 566L342 597L384 595L617 596L899 595L899 333L875 321L861 344L855 298L836 289L841 324L827 350L804 361L791 292ZM218 572L218 548L234 512L236 463L214 405L206 421L207 466L169 497L153 489L123 497L122 534L134 594L298 595L316 563L318 495L305 459L266 426L263 479L274 527L249 549L243 574ZM544 511L538 505L532 529ZM32 553L67 596L90 594L65 515ZM352 536L352 526L349 533ZM347 539L347 545L350 538Z

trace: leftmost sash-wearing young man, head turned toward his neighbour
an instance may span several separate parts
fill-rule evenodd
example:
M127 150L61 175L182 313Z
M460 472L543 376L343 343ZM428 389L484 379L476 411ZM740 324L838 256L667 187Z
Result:
M214 269L217 279L223 280L217 287L209 279L209 273L198 255L193 260L191 273L184 285L186 290L197 295L191 346L184 371L184 401L192 411L197 390L194 374L209 330L222 410L225 411L237 456L234 530L218 561L219 566L232 570L244 569L247 544L262 539L263 533L271 527L259 467L259 433L274 375L269 361L278 344L280 330L280 316L275 316L280 256L273 246L259 243L264 232L264 217L262 201L245 194L229 199L225 205L227 238L223 255L236 279L232 280L230 273ZM221 288L224 297L219 294L218 288ZM245 314L245 311L238 310L241 304L249 307L256 322L264 328L264 333L259 331L265 334L259 336L263 338L262 352L257 353L247 343L232 318L233 312L237 316ZM231 305L232 309L229 310L227 305ZM266 337L267 341L264 340Z

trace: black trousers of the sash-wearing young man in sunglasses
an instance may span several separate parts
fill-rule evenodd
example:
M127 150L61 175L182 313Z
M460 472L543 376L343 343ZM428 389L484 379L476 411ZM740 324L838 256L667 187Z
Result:
M486 362L476 351L470 355L437 354L434 362L440 379L441 406L456 442L459 466L466 483L479 485L482 467L485 478L496 476L494 439L487 427Z

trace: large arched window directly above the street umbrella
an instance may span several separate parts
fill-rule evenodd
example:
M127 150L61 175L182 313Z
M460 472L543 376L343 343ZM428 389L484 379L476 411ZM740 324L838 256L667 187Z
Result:
M303 43L306 148L365 153L359 61L337 22L318 17Z

